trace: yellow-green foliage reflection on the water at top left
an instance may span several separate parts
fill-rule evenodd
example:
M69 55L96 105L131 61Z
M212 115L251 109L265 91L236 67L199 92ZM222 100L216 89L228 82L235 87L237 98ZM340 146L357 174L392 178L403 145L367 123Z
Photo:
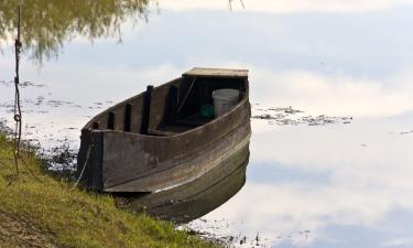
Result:
M146 20L150 0L36 0L0 1L0 42L12 41L17 8L22 6L23 47L39 64L57 56L63 43L81 35L121 41L121 25ZM1 43L0 43L1 44ZM0 47L1 48L1 47Z

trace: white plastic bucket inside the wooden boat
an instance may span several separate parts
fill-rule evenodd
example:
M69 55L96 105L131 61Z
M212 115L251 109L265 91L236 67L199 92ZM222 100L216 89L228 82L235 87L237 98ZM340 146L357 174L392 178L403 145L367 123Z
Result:
M239 103L239 90L222 88L213 91L215 117L222 116Z

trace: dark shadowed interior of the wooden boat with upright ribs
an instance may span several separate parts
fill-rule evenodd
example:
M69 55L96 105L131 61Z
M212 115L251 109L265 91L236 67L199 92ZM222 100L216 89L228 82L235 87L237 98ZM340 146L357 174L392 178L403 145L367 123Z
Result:
M146 136L174 136L214 120L213 91L238 89L248 96L246 76L191 75L124 100L96 116L85 128Z

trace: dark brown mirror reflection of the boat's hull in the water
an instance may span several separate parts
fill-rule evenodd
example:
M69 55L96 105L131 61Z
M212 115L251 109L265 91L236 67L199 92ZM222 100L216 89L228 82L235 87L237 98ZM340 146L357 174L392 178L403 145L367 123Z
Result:
M219 207L242 188L249 154L247 143L193 182L156 193L116 194L117 204L176 224L188 223Z

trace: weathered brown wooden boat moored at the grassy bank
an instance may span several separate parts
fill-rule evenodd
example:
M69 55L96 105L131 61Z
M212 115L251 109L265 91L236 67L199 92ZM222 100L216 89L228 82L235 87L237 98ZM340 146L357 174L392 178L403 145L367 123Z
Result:
M219 117L213 91L239 90ZM161 192L189 183L242 149L251 134L248 71L194 68L94 117L81 130L77 172L99 192Z

